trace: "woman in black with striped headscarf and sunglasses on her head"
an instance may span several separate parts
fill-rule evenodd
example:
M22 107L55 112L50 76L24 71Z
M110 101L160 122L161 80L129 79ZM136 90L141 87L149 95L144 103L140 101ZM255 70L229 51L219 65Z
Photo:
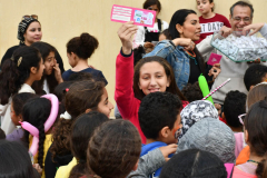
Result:
M10 59L13 55L13 51L19 47L31 46L33 42L41 40L42 38L41 23L38 21L37 16L33 16L33 14L23 16L21 22L19 23L17 38L20 40L20 43L7 50L7 52L2 57L1 65L4 62L6 59ZM61 72L63 72L65 71L63 62L58 51L56 51L55 56L59 63L59 68Z

